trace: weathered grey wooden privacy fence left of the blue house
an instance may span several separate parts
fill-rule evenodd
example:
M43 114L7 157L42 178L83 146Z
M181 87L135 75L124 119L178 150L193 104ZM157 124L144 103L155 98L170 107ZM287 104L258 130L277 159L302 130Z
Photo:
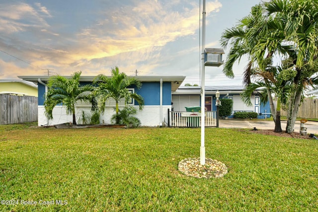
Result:
M37 120L37 97L0 94L0 125Z

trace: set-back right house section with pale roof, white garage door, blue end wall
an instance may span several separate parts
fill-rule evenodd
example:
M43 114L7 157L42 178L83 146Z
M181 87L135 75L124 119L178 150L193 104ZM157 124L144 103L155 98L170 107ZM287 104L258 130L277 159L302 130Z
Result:
M220 99L233 100L233 113L236 111L249 111L261 113L258 118L270 117L269 104L263 105L260 103L260 98L255 92L251 97L252 106L246 106L241 101L240 94L243 91L242 86L205 86L205 107L207 111L215 111L216 97L215 93L220 92ZM172 92L172 103L174 111L186 111L188 106L201 106L201 88L200 86L182 86Z

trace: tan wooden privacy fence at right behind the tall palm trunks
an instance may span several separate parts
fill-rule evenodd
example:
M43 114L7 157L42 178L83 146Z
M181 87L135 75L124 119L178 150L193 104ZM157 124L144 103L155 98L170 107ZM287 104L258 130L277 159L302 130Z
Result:
M287 111L281 110L281 115L286 116ZM318 99L304 99L298 109L298 118L318 118Z

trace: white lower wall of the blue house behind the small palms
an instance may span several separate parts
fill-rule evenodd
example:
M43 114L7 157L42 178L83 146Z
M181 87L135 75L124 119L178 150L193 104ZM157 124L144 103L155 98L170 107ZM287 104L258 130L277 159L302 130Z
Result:
M138 109L139 107L136 106ZM138 113L135 115L140 119L142 126L155 127L160 125L160 121L168 122L168 108L171 110L171 106L162 106L162 120L160 120L160 106L144 106L143 110L138 110ZM90 107L77 107L77 121L78 114L81 110L90 111ZM39 126L52 126L56 124L63 124L67 122L72 122L72 115L66 114L66 109L64 106L55 106L53 109L53 119L47 120L44 114L44 106L38 106L38 125ZM115 113L113 107L106 107L104 114L100 115L101 124L110 124L110 117Z

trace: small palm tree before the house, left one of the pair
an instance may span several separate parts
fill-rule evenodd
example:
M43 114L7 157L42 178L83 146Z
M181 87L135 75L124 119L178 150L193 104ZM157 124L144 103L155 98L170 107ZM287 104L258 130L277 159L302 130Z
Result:
M73 115L73 124L76 124L75 105L77 101L91 104L94 110L97 106L95 98L85 92L92 92L91 85L79 84L80 72L75 72L70 79L56 75L49 78L48 92L44 101L45 115L48 119L53 119L53 108L59 104L66 107L67 114Z

